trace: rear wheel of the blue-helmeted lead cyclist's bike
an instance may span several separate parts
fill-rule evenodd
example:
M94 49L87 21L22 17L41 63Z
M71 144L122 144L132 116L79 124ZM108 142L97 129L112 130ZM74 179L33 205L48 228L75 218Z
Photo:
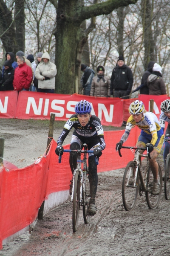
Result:
M85 177L85 186L82 191L82 198L83 198L83 206L82 206L82 211L83 211L83 218L85 221L85 224L88 224L90 222L91 216L88 215L88 207L89 207L89 197L87 196L87 174Z

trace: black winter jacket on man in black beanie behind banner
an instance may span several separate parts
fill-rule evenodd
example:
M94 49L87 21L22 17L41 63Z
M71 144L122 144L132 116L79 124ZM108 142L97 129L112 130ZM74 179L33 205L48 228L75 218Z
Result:
M111 76L111 94L113 95L114 90L126 90L130 93L133 85L133 73L130 67L118 65L114 67Z

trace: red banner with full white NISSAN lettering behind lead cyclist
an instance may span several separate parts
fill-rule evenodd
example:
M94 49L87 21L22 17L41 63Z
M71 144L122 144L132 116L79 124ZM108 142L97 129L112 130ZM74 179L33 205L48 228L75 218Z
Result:
M123 122L123 99L92 97L79 94L35 93L21 91L18 96L15 118L68 120L75 113L74 107L82 99L92 105L92 115L96 115L102 125L121 126Z

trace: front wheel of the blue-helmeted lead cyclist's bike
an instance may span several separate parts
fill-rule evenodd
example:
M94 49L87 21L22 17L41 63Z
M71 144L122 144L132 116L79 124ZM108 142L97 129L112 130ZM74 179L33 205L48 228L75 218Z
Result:
M73 215L72 224L73 232L77 231L78 219L79 219L79 208L80 208L80 175L76 172L74 180L74 191L73 191Z

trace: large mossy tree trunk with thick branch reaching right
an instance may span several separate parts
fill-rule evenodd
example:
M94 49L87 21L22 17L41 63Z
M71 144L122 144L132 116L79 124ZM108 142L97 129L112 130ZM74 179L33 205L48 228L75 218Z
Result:
M57 0L50 0L57 6ZM113 9L136 3L137 0L107 0L91 6L83 6L82 0L58 0L56 58L57 66L56 93L74 93L75 77L78 75L77 61L79 43L85 38L85 32L80 25L83 20L102 14L109 14Z

